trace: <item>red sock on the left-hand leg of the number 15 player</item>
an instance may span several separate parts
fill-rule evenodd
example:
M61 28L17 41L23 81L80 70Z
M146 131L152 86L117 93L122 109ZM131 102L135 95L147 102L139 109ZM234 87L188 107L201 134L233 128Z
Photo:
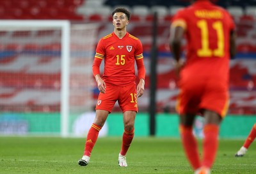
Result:
M90 157L93 146L95 145L97 138L99 136L100 129L101 127L99 125L95 125L94 123L92 124L92 127L90 128L87 134L87 138L84 146L84 155Z

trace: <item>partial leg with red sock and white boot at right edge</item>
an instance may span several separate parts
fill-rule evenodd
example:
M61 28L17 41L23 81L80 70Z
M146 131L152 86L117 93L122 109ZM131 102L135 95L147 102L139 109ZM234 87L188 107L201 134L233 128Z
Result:
M236 157L243 157L243 155L247 152L249 146L252 144L256 137L256 123L253 125L252 130L246 140L244 141L243 146L238 150L235 154Z

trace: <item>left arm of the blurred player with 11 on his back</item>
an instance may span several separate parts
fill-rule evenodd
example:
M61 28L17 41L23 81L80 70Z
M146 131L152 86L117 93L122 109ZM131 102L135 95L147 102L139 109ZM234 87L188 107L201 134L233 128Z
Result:
M182 53L182 38L186 29L186 23L184 20L176 20L172 23L170 28L170 50L173 52L173 58L175 62L175 70L179 75L180 69L183 67L182 61L180 61L180 56Z

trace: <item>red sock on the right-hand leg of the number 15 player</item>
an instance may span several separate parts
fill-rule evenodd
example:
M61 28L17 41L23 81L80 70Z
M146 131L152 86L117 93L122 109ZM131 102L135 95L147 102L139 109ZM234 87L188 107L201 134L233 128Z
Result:
M132 143L132 139L134 137L134 129L132 131L126 131L124 130L123 139L122 139L122 148L121 148L121 155L126 155L129 146Z

